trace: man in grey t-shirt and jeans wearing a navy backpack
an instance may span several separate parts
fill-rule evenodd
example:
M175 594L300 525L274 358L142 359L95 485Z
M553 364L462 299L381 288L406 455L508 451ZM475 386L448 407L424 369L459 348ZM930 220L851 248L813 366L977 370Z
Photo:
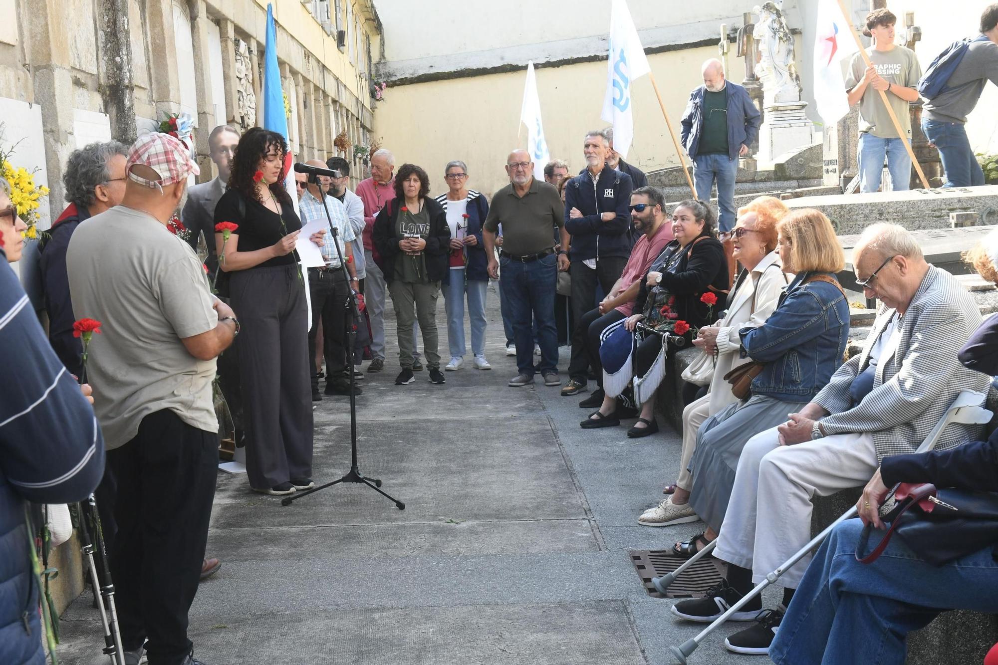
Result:
M984 184L984 172L967 140L967 116L988 81L998 86L998 3L981 14L981 36L970 43L941 93L922 107L922 131L939 151L946 171L943 187Z

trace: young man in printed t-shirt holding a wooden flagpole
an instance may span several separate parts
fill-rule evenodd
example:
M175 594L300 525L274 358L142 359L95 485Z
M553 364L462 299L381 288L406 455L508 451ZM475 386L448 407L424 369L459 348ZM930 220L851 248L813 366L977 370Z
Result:
M856 53L845 78L849 106L859 103L859 191L863 193L880 189L884 156L895 192L907 190L911 180L911 158L879 92L887 95L904 139L910 142L908 103L918 101L915 86L922 70L914 51L894 44L896 22L897 17L886 9L866 15L863 34L874 40L866 49L873 66L866 67L862 54Z

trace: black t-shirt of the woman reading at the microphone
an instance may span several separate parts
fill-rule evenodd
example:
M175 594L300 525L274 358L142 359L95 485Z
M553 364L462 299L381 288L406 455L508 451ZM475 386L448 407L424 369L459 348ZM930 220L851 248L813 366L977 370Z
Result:
M243 200L243 212L240 211L240 200ZM215 223L232 222L239 225L239 229L233 232L234 236L240 237L240 252L253 252L268 248L281 237L294 233L301 228L301 221L294 214L294 208L287 204L281 204L281 215L277 215L262 204L253 199L249 199L239 190L229 190L219 199L219 205L215 207ZM283 218L283 225L281 225ZM295 263L295 253L285 254L283 257L276 257L264 261L254 268L266 268L270 266L289 266ZM251 270L251 269L250 269Z

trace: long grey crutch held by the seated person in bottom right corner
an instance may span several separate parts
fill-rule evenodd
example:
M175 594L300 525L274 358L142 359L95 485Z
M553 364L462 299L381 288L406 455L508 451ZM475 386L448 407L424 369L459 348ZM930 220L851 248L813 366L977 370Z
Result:
M925 440L922 441L922 444L918 446L918 449L915 452L928 452L935 447L942 430L945 429L946 425L950 423L987 424L990 422L992 413L988 409L984 408L983 404L985 399L986 395L980 392L976 392L974 390L961 391L960 394L956 396L956 399L953 400L953 403L950 404L943 416L939 418L939 421L935 424L935 427L932 428L932 431L929 432L929 435L925 437ZM746 603L749 602L749 600L760 594L762 589L775 583L775 581L779 579L784 572L786 572L789 568L792 568L793 565L806 556L808 552L820 545L821 541L823 541L828 534L831 533L831 530L838 526L840 522L855 516L855 514L856 506L852 506L845 512L845 514L841 515L838 519L829 524L827 528L811 538L810 542L797 550L793 556L783 562L778 568L768 573L764 580L755 585L755 588L743 596L739 602L729 607L727 612L715 619L714 623L702 630L699 635L693 639L687 640L681 646L669 647L669 650L673 652L674 656L676 656L676 661L681 665L687 665L687 656L696 651L697 647L699 647L701 642L704 641L704 638L714 632L718 626L725 623L728 620L728 617L742 609ZM711 544L714 544L714 542L717 542L717 539L715 539ZM705 547L702 551L705 550L707 550L707 547ZM698 554L699 553L700 552L698 552Z

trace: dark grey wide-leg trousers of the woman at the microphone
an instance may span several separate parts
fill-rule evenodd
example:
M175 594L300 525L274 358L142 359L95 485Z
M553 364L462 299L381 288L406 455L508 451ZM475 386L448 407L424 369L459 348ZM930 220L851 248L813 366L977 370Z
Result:
M308 313L296 266L233 273L250 486L311 476Z

